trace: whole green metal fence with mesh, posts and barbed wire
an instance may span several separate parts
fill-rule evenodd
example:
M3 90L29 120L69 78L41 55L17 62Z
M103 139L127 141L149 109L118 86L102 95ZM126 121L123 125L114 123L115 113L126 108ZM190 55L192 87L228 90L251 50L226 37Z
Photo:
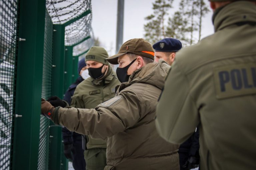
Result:
M74 82L91 18L90 0L0 0L0 170L68 168L40 97L62 98Z

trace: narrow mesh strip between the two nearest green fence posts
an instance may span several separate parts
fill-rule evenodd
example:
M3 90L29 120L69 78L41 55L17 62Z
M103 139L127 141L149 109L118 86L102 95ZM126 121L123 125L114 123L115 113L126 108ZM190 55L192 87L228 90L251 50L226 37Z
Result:
M43 83L42 98L51 96L52 83L52 47L53 47L53 24L51 17L46 11L44 33L44 58L43 58ZM40 135L38 148L38 170L49 168L49 143L50 143L50 120L44 116L40 118Z

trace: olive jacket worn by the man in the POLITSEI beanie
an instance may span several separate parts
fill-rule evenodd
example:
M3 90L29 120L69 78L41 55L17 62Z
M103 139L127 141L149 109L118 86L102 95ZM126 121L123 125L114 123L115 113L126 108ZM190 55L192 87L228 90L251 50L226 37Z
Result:
M91 77L77 85L70 107L92 109L115 96L115 87L120 82L116 73L109 66L107 74L100 80ZM106 148L106 140L87 136L86 148Z

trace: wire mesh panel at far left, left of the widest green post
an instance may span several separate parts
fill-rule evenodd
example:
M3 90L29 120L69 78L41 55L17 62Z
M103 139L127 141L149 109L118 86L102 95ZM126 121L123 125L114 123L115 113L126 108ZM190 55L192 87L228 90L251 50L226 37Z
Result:
M0 0L0 170L11 169L17 1Z

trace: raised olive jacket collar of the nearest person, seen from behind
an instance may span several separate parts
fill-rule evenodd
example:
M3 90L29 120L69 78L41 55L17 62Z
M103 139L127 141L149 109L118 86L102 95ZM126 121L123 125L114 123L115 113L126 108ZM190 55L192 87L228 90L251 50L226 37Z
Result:
M235 1L217 9L213 14L215 32L237 23L256 23L256 5Z

